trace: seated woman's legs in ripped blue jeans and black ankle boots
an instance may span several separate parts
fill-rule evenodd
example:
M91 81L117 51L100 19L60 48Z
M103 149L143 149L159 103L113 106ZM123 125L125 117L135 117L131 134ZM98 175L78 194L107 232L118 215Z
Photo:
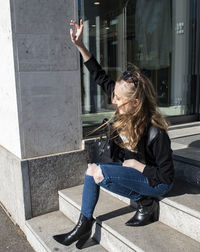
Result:
M142 173L122 166L121 162L89 164L85 174L79 221L71 232L53 236L57 242L68 246L78 241L76 246L81 248L89 239L94 223L92 215L99 198L100 186L135 201L143 199L144 195L163 195L170 189L170 186L165 184L150 187L147 178ZM152 205L143 206L126 225L139 226L151 222L151 218L155 219L157 209L155 201Z

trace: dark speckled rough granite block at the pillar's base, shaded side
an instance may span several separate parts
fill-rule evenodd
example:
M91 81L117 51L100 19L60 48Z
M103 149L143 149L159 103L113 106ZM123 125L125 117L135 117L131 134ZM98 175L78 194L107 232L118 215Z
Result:
M30 159L28 162L32 216L58 209L58 190L83 183L85 151Z

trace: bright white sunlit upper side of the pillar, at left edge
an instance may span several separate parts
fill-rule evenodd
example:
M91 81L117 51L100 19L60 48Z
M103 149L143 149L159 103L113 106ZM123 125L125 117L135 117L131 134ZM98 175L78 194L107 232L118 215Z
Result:
M21 156L10 1L0 3L0 145Z

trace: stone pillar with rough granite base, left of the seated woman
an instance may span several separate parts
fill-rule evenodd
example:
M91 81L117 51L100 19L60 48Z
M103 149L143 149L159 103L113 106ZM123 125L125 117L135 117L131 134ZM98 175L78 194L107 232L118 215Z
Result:
M82 183L87 165L77 2L0 1L0 201L22 229L58 209L57 191Z

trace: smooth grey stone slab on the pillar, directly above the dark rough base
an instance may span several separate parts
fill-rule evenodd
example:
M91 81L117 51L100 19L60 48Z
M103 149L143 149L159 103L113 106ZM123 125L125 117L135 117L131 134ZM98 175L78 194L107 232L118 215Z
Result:
M82 148L77 72L21 73L22 157Z

